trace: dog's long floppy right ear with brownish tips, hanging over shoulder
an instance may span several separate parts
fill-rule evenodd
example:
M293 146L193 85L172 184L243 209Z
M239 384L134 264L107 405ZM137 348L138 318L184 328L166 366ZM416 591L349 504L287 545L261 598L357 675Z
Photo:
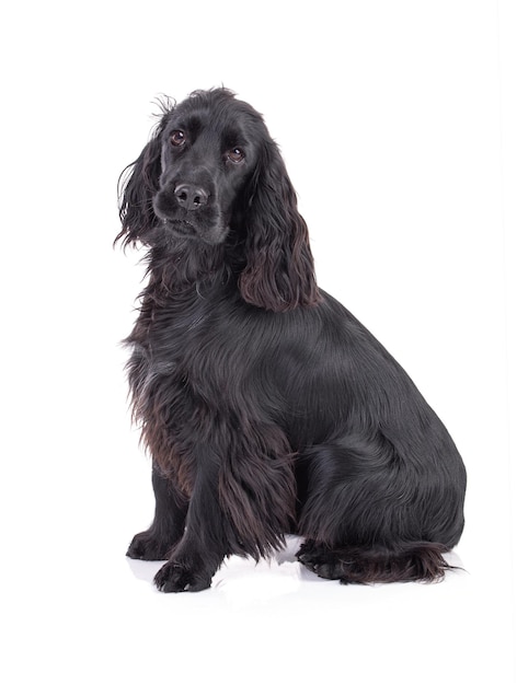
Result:
M246 265L239 278L242 298L274 312L315 304L319 290L309 234L276 144L262 150L253 178L246 222Z

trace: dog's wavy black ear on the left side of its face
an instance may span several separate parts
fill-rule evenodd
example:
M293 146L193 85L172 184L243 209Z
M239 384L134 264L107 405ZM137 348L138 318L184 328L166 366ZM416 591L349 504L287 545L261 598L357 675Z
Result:
M124 246L138 240L145 242L146 235L159 223L152 209L152 198L159 189L163 119L140 156L120 174L118 208L122 230L115 242L124 239Z

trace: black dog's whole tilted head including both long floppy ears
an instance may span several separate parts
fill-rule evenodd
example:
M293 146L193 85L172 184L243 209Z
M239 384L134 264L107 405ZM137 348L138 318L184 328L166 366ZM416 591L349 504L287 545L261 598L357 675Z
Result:
M127 172L117 240L206 247L231 233L248 302L284 311L318 300L307 227L284 161L261 115L233 93L197 91L164 106Z

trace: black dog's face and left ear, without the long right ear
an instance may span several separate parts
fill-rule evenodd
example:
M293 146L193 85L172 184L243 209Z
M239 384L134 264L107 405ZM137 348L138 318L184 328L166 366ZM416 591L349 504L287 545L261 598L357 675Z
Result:
M226 89L197 91L176 106L164 105L151 140L128 167L119 237L152 244L168 232L223 242L268 141L262 117Z

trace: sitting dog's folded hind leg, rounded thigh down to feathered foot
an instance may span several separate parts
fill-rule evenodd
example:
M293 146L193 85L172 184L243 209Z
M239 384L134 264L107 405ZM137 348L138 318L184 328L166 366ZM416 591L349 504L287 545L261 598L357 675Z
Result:
M463 525L461 478L443 471L429 462L416 473L382 436L301 453L298 559L343 583L440 580Z

